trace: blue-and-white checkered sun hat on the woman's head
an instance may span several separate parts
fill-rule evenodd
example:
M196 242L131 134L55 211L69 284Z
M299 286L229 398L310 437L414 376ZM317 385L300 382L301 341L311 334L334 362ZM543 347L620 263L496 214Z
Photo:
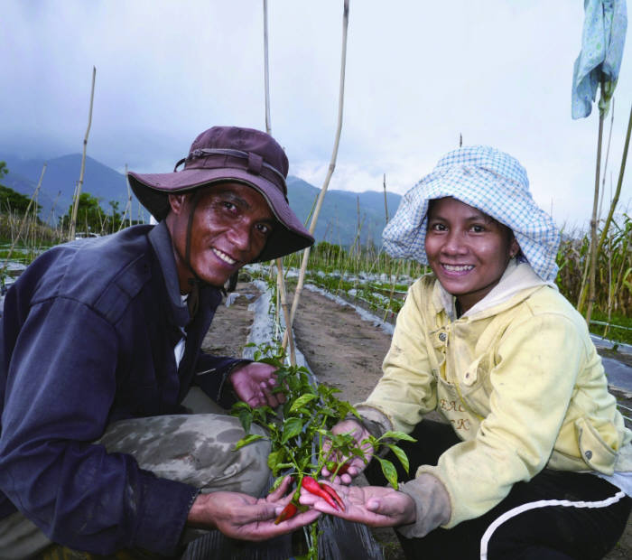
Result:
M534 202L525 168L509 154L488 146L467 146L445 154L399 204L384 232L386 252L428 264L424 248L428 201L452 197L512 229L528 263L553 282L560 234L553 219Z

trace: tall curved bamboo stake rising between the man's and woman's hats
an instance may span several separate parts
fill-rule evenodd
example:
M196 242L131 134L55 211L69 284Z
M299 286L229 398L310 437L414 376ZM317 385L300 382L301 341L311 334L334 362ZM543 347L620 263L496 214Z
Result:
M338 96L338 127L336 129L336 139L333 145L333 152L331 153L331 161L330 167L327 172L327 176L325 177L325 182L322 184L321 194L316 202L316 209L314 210L314 215L311 218L310 224L310 234L313 235L314 230L316 229L316 222L318 221L319 214L321 213L322 201L325 198L325 193L327 192L327 188L330 184L331 175L333 175L333 171L336 168L336 158L338 156L338 148L340 143L340 133L342 131L342 113L344 107L344 97L345 97L345 65L347 60L347 30L349 27L349 0L344 0L344 8L342 14L342 52L341 52L341 61L340 61L340 86L339 86L339 96ZM296 315L296 309L299 306L299 300L301 299L302 294L302 286L305 281L305 271L307 270L307 261L310 259L310 249L311 247L307 247L304 249L302 254L302 264L301 264L301 272L299 274L298 283L296 285L296 291L294 292L294 299L292 302L292 311L290 312L290 325L288 326L288 331L292 329L292 324L294 322L294 316ZM286 331L286 333L288 332ZM283 339L283 348L286 346L286 338Z

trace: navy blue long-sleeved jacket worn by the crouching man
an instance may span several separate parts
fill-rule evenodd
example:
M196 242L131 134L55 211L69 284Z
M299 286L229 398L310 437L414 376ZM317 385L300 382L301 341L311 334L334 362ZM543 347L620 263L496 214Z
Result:
M161 223L53 247L9 289L0 518L19 509L53 541L88 552L174 550L197 489L91 442L116 420L181 413L193 380L219 400L237 360L205 355L200 345L221 294L200 288L191 321L177 282ZM176 369L180 327L186 347Z

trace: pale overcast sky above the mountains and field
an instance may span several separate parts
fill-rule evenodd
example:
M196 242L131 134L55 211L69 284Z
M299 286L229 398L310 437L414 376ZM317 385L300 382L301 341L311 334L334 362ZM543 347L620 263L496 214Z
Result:
M319 187L336 130L342 5L268 1L273 135L290 173ZM119 171L171 171L209 126L265 129L263 0L5 0L0 18L0 160L81 152L93 65L88 155ZM581 0L350 0L330 188L381 190L386 173L403 194L462 134L515 155L558 225L585 227L598 117L571 118L582 23ZM632 103L627 43L607 195ZM632 163L622 210L631 176Z

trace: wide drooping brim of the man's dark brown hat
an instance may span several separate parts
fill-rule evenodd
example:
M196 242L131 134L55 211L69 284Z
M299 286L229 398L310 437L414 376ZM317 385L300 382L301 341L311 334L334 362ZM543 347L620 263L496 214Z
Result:
M258 191L265 199L277 220L277 226L265 244L264 250L253 262L283 257L314 243L285 200L283 192L265 177L235 168L184 169L174 173L127 173L136 198L158 221L165 219L170 210L169 195L193 191L220 182L241 182Z

